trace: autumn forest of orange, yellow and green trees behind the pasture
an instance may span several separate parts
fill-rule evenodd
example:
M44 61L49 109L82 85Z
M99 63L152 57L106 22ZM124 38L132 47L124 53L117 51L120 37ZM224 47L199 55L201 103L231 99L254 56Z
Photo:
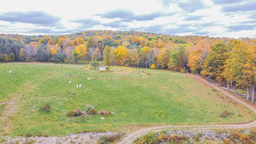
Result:
M168 69L206 76L254 102L255 38L94 30L59 36L0 34L0 62L56 62ZM251 96L250 96L251 95Z

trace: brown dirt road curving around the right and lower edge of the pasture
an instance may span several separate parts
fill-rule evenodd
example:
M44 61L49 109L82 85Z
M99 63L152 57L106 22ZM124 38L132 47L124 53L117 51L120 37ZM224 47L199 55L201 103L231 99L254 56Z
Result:
M247 106L248 108L250 108L254 114L256 114L256 108L251 106L250 104L234 97L232 94L229 94L228 92L226 92L225 90L219 88L218 86L208 82L207 80L205 80L204 78L201 78L200 76L196 76L196 75L190 75L190 76L194 76L195 78L197 78L198 80L208 84L209 86L212 86L214 88L216 88L217 90L219 90L220 92L223 92L224 94L226 94L227 96L233 98L234 100L244 104L245 106ZM132 132L130 134L128 134L128 136L126 136L121 142L118 142L117 144L132 144L133 140L135 140L136 138L139 138L140 136L150 132L150 131L161 131L164 129L177 129L177 128L193 128L193 129L227 129L227 128L252 128L252 127L256 127L256 120L254 120L253 122L248 122L248 123L243 123L243 124L230 124L230 125L197 125L197 126L192 126L192 125L187 125L187 126L158 126L158 127L151 127L151 128L143 128L140 129L136 132Z

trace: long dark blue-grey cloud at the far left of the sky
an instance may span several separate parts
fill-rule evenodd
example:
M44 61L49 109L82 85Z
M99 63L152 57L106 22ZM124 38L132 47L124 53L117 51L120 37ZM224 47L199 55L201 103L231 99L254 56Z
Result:
M60 22L60 18L52 16L42 11L28 11L28 12L6 12L0 14L0 20L6 22L21 22L37 25L55 25Z

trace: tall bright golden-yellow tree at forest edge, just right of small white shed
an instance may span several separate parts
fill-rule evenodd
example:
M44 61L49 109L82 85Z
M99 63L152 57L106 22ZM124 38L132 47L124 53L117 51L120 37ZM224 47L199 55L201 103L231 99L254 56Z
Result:
M124 64L124 60L127 58L128 55L126 47L120 45L113 51L116 59L120 62L120 65L122 66Z

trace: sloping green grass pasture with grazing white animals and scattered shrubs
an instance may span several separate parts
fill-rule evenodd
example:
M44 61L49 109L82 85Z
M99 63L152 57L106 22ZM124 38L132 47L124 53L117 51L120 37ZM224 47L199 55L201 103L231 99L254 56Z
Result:
M0 103L6 104L0 105L0 135L59 136L120 130L131 124L178 125L188 119L189 124L220 124L221 120L227 124L256 118L245 106L189 74L110 68L111 72L100 72L84 65L1 63ZM50 112L40 111L44 104L50 105ZM67 120L65 113L85 110L86 104L114 114L103 116L104 120L98 114ZM232 114L221 118L224 110Z

